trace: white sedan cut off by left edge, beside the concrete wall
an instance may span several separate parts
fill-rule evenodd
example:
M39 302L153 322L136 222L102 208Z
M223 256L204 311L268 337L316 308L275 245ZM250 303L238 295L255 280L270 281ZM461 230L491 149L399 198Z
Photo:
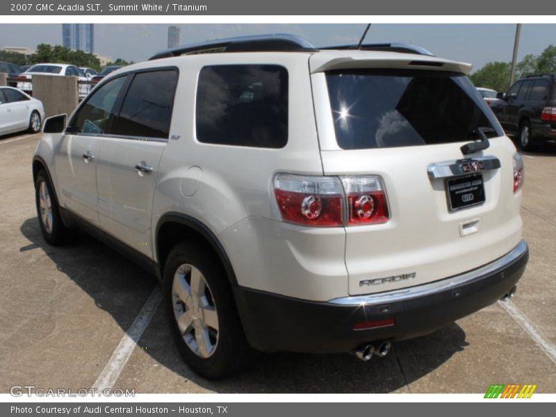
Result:
M0 135L40 131L44 108L38 99L12 87L0 87Z

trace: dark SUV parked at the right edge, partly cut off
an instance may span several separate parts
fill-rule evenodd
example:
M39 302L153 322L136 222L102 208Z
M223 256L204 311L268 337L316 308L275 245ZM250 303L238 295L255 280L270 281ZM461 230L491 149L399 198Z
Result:
M517 133L528 151L544 140L556 139L556 74L534 74L516 81L491 108L506 133Z

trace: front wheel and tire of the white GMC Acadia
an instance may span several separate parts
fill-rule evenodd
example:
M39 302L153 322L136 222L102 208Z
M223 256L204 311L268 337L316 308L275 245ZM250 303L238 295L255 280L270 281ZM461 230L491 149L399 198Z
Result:
M44 240L54 246L74 240L77 236L77 229L65 227L56 196L45 170L40 170L35 179L35 203Z

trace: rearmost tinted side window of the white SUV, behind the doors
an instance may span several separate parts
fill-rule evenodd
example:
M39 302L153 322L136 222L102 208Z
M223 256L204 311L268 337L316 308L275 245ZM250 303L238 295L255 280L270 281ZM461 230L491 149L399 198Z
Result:
M288 71L279 65L202 68L197 85L197 140L281 148L288 142Z

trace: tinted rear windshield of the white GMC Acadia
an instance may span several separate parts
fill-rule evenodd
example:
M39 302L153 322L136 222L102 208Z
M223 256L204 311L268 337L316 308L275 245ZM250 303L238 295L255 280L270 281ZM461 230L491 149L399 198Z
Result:
M336 140L343 149L477 140L496 117L463 74L353 70L326 74Z

